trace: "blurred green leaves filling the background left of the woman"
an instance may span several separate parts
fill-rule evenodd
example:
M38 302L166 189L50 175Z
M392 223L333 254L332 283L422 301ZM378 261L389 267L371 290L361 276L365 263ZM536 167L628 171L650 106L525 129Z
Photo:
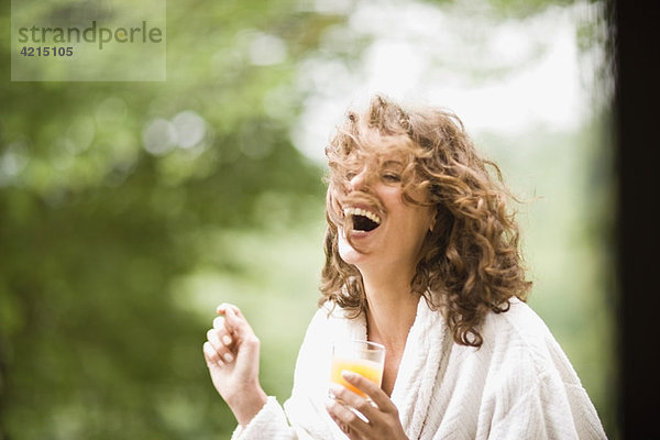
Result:
M321 172L288 140L302 99L292 79L342 18L293 7L168 4L166 84L2 86L0 438L233 430L201 356L215 305L229 295L208 292L201 317L177 279L205 265L220 277L254 270L219 238L322 220ZM0 69L9 77L7 64ZM320 243L315 224L306 243ZM265 244L252 244L260 255ZM311 305L298 314L305 321L317 295L310 262L316 272L298 293ZM263 264L286 262L274 253Z

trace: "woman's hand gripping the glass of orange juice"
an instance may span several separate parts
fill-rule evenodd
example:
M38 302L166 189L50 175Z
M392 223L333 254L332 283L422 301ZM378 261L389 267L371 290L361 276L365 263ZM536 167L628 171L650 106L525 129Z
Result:
M328 400L326 410L350 439L408 439L398 418L398 409L383 389L360 374L344 371L342 376L349 384L366 394L375 404L374 406L341 385L331 385L330 392L336 399ZM349 407L360 411L366 420L363 420Z

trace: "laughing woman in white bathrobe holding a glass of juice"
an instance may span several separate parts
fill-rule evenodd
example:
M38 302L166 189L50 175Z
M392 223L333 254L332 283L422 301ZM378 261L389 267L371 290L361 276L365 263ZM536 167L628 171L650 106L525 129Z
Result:
M605 438L570 362L524 302L530 283L510 197L458 118L375 97L348 114L326 153L322 298L284 408L260 386L258 340L235 306L220 306L207 333L234 438ZM332 344L351 339L386 348L380 388L344 372L371 403L329 385Z

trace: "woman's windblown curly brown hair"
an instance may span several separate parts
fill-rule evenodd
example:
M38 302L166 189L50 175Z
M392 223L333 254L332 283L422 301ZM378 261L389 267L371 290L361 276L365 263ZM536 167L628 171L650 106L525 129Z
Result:
M328 228L319 304L330 301L352 317L366 311L362 277L341 258L338 230L351 222L341 211L342 200L354 196L346 175L374 156L374 146L404 158L404 201L436 210L436 227L425 239L411 293L444 314L457 343L481 346L479 327L485 315L507 311L514 296L525 301L531 283L525 278L518 226L507 208L515 197L504 186L497 165L476 152L460 119L442 109L404 110L375 96L365 112L350 111L338 128L326 147ZM426 201L411 197L413 189L419 193L419 188L428 194Z

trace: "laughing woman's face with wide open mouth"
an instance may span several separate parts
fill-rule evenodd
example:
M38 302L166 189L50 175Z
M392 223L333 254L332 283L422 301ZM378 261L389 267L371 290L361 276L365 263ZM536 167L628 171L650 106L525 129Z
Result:
M353 221L346 223L352 224L351 230L339 229L339 254L361 272L374 265L414 270L417 264L435 210L404 201L402 173L405 166L396 155L384 154L382 161L366 161L345 176L349 194L341 209L345 217L352 216ZM361 194L369 196L361 198ZM422 189L414 190L410 196L421 202L428 200ZM380 208L376 204L351 201L372 197Z

